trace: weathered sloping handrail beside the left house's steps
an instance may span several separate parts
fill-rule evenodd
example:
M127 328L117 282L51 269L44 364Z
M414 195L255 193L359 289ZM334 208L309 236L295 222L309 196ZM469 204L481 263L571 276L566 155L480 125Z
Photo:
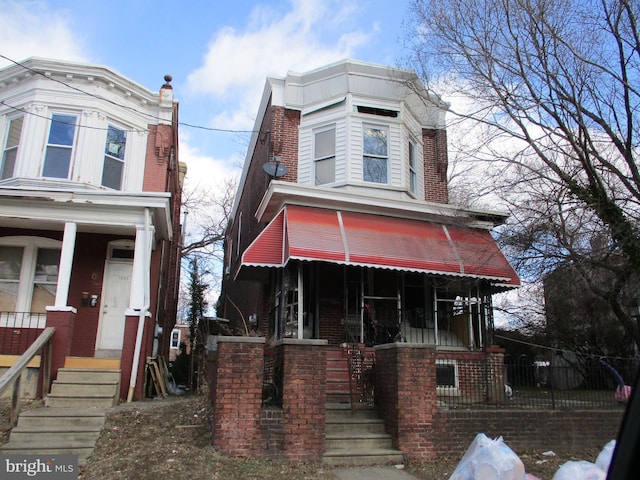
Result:
M43 386L45 389L49 386L49 378L51 374L51 337L56 331L55 327L46 327L40 336L31 344L31 346L20 356L18 361L0 377L0 395L9 386L13 384L13 394L11 396L11 427L15 427L18 422L19 402L20 402L20 380L22 373L29 365L29 362L35 357L40 349L44 348L42 360L40 361L40 369L43 378Z

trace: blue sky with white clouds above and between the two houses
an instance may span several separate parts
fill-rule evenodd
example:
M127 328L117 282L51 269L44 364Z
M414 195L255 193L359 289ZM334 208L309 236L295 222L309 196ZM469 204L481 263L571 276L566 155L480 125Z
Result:
M398 65L409 3L0 0L0 54L105 65L154 91L170 74L186 187L221 185L239 174L249 135L237 131L253 128L267 76L345 58Z

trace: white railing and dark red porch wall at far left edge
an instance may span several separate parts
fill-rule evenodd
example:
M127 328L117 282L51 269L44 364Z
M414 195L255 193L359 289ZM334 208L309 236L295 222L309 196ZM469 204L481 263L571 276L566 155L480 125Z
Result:
M22 355L42 333L46 313L0 312L0 355Z

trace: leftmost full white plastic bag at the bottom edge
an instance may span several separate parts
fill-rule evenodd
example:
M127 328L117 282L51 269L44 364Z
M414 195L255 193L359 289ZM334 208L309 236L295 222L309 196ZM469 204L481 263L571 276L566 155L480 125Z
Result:
M524 464L502 437L479 433L449 480L525 480Z

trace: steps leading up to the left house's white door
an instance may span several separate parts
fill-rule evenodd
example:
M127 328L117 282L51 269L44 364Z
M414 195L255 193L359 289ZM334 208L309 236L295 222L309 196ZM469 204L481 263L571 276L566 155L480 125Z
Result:
M2 452L74 454L84 465L119 391L120 370L61 368L45 407L20 414Z

